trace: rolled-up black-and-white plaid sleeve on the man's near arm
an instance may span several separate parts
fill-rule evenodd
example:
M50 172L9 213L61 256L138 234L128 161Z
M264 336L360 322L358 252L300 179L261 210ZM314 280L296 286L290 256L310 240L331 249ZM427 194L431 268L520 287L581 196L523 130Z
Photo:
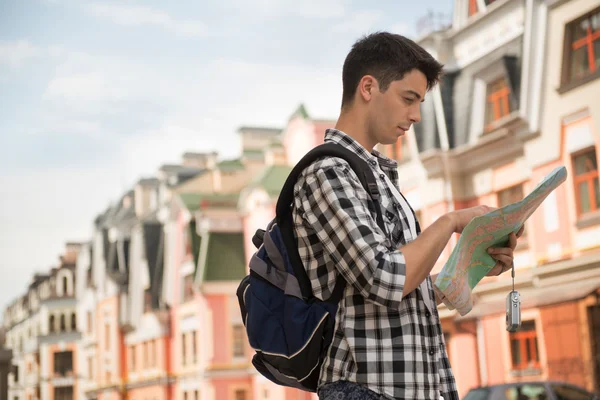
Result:
M406 281L404 255L384 245L384 232L354 172L341 165L319 167L306 175L302 189L304 219L339 273L369 301L399 308Z

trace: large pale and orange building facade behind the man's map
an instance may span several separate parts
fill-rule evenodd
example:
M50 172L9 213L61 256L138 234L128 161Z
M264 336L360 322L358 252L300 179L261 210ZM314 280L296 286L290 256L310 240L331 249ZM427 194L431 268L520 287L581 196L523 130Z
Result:
M505 329L509 274L480 282L465 316L440 307L461 396L524 380L600 390L599 11L585 0L457 0L453 26L420 40L446 74L423 121L383 150L400 159L422 227L455 209L517 202L554 168L568 171L515 251L521 329Z

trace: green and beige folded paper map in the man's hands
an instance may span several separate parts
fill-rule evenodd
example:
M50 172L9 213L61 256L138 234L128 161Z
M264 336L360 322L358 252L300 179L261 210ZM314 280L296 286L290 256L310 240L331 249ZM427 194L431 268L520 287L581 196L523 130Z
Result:
M471 290L496 265L487 249L506 247L508 235L517 233L544 199L566 179L565 167L557 167L523 200L469 222L434 284L436 295L450 310L456 309L460 315L471 311Z

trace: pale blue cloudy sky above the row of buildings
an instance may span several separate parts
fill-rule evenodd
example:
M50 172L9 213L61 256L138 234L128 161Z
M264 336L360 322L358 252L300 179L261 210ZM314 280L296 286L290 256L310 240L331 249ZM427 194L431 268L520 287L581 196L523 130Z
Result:
M428 11L452 0L0 0L0 308L160 165L335 119L352 43Z

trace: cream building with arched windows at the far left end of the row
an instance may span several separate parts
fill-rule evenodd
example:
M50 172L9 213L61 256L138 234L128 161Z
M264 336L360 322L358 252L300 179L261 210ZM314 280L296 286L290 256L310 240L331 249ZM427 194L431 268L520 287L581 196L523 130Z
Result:
M25 295L4 312L12 350L9 399L71 399L79 390L75 263L81 245L67 243L58 267L36 274Z

